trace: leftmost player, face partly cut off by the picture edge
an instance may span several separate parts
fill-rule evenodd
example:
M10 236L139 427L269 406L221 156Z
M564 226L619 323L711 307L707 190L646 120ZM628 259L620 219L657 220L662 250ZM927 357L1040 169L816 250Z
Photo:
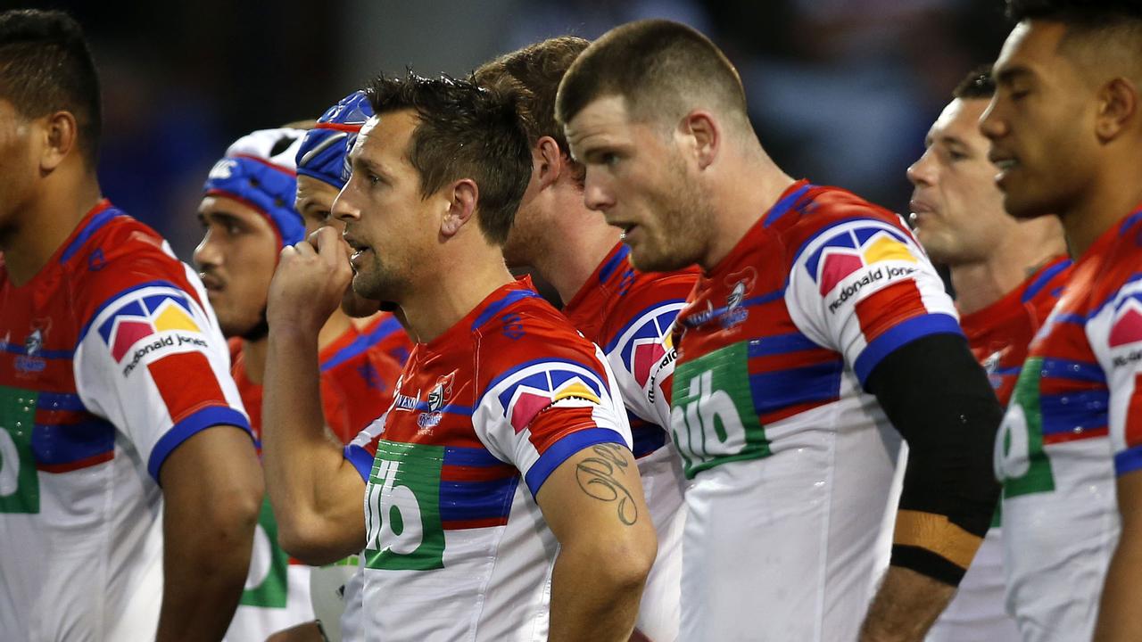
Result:
M0 631L217 640L262 475L198 276L99 193L79 25L0 14Z

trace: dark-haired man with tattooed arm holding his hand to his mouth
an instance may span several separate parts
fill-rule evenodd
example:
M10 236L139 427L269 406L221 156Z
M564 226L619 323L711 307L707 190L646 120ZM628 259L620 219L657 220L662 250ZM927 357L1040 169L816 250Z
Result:
M316 250L283 250L271 287L266 423L324 463L282 475L299 508L283 544L319 562L364 548L369 636L625 641L654 530L604 355L504 265L531 168L514 106L411 74L368 94L333 204L353 255L321 230ZM343 455L306 430L306 382L348 263L418 343L392 408Z

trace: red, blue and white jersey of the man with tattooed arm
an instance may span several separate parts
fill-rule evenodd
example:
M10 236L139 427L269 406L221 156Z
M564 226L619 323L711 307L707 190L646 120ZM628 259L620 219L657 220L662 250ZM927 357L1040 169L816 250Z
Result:
M558 544L534 497L601 444L630 448L614 376L526 280L417 344L346 447L368 480L363 637L546 640Z

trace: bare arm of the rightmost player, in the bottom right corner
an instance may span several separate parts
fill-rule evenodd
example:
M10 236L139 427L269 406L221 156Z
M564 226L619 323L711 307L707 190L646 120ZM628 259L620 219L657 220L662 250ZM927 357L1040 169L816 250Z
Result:
M1118 478L1118 511L1123 530L1102 588L1095 642L1137 640L1142 631L1142 609L1137 608L1142 591L1142 471Z

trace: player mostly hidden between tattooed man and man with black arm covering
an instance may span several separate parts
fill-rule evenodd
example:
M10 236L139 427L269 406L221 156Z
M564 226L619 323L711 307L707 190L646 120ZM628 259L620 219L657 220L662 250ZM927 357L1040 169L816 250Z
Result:
M674 351L669 328L698 273L636 272L620 231L582 204L584 168L555 122L564 72L589 45L561 37L506 54L476 70L476 81L516 98L531 143L532 177L504 244L508 266L532 266L552 283L563 313L600 345L622 391L658 556L638 609L640 633L678 637L682 572L682 470L667 436Z

